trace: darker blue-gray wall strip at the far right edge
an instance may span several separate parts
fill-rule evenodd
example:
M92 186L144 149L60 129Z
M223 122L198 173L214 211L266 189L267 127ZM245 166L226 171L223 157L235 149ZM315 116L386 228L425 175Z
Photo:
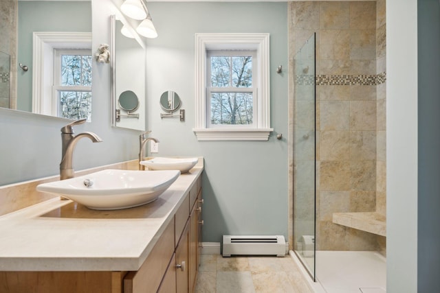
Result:
M440 288L440 3L417 1L418 223L417 292Z

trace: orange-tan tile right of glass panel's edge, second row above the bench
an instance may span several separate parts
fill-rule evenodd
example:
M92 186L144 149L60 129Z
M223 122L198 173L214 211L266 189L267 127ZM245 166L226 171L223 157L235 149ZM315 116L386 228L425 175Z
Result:
M325 190L350 190L349 161L320 162L320 192Z

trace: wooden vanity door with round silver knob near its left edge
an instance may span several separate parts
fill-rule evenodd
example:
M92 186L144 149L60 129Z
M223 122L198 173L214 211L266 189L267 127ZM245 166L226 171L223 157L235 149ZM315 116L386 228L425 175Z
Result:
M182 233L179 244L176 248L176 292L189 292L189 274L188 274L188 257L189 257L189 224L188 221Z

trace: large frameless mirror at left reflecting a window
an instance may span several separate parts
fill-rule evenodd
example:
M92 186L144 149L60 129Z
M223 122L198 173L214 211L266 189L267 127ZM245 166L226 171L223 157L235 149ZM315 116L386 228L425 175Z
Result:
M0 1L0 13L0 107L90 121L91 1Z

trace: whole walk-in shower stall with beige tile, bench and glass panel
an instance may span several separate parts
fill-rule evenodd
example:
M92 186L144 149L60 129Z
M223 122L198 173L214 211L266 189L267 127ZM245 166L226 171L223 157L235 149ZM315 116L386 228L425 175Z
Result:
M385 0L288 5L294 258L323 292L385 292Z

